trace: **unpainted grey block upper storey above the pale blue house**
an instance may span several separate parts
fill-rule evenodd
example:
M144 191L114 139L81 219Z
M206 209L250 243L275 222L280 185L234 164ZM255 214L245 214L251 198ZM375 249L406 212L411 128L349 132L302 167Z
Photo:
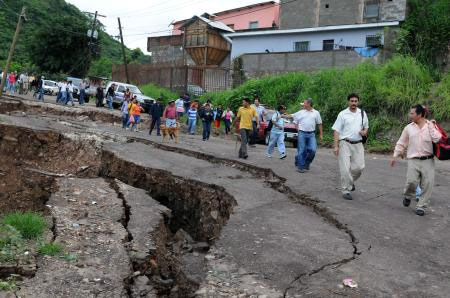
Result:
M366 3L379 3L379 15L364 18ZM403 21L407 0L280 0L280 29L301 29L330 25L350 25Z

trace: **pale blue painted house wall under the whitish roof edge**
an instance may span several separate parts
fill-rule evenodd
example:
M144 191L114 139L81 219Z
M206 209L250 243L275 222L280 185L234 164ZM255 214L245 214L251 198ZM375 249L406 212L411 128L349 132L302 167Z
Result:
M261 36L233 37L231 58L234 59L247 53L292 52L294 43L309 41L310 51L321 51L323 40L334 39L335 44L352 47L365 47L366 36L380 34L383 36L383 28L351 29L341 31L295 33Z

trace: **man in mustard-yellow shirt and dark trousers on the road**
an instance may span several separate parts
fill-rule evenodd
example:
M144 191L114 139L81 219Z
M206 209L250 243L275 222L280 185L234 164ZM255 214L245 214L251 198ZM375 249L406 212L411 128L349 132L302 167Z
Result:
M256 110L250 106L250 100L244 98L242 100L242 107L239 108L236 120L239 121L239 130L241 133L241 148L239 149L239 158L247 159L247 144L250 137L250 132L253 130L253 118L256 118L257 126L259 128L259 117Z

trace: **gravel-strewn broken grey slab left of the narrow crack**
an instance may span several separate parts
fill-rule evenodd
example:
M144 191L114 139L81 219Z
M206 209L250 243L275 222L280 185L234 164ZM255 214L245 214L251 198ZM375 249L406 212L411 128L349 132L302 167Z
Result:
M65 255L43 257L35 277L24 280L17 295L128 297L132 268L124 247L127 232L120 223L121 199L101 178L61 178L57 184L48 204L56 222L55 242Z

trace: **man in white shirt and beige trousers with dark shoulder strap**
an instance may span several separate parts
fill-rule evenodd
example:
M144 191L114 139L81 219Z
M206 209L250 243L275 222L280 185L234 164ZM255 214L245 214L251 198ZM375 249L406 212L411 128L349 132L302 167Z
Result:
M355 181L364 169L362 142L363 136L367 137L369 131L369 119L365 112L358 109L357 94L350 94L347 100L348 108L339 113L333 125L334 154L339 157L343 197L352 200L350 191L355 190Z

